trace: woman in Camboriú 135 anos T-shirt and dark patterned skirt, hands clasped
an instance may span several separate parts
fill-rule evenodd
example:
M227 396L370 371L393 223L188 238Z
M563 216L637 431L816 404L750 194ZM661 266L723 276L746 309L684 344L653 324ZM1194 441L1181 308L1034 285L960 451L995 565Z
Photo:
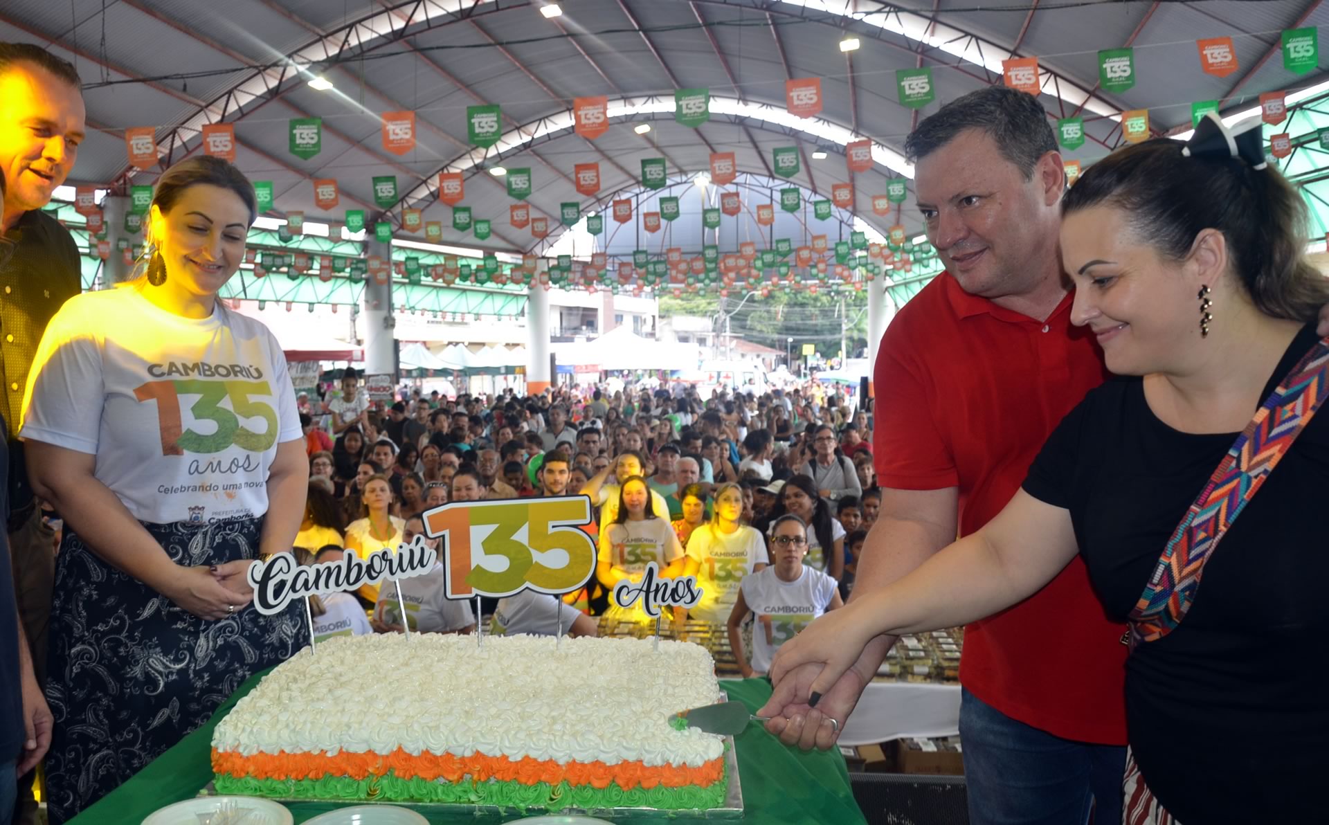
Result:
M48 648L53 822L308 643L303 604L249 607L246 571L290 553L310 476L280 344L218 300L255 214L230 163L167 169L141 274L69 299L28 375L29 476L65 519Z

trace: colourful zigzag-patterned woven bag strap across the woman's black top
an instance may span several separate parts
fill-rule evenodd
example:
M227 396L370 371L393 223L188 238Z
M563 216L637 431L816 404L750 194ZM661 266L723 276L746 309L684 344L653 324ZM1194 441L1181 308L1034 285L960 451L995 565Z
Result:
M1204 563L1329 396L1329 337L1297 361L1232 442L1176 526L1131 611L1131 647L1172 632L1195 600Z

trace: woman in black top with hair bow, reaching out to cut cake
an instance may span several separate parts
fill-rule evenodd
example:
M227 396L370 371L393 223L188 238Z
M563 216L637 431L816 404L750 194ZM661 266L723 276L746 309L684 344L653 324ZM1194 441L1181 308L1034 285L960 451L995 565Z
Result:
M1305 205L1263 167L1259 132L1244 161L1228 151L1248 146L1241 137L1204 129L1221 154L1140 143L1092 166L1063 202L1071 319L1123 377L1066 416L997 518L878 598L819 619L781 648L772 680L825 692L870 638L993 615L1076 553L1104 610L1131 612L1237 433L1317 343L1329 300L1304 258ZM1322 412L1212 551L1184 620L1127 660L1131 752L1172 821L1325 821L1314 797L1329 749L1326 490ZM819 744L833 739L824 727Z

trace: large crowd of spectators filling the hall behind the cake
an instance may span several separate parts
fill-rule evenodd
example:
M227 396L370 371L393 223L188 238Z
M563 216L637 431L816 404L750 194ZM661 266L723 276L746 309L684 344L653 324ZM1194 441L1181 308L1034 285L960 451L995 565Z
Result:
M762 622L781 598L792 598L777 632L759 635L777 646L843 603L853 585L853 549L861 547L880 501L867 412L815 383L762 396L726 389L704 400L680 381L613 393L561 387L525 397L506 391L456 399L403 387L393 400L371 403L347 368L316 397L302 395L299 408L310 490L295 546L315 561L335 561L343 549L365 555L396 547L421 533L412 525L423 525L424 511L443 504L540 496L590 497L586 531L598 547L591 582L563 599L571 614L556 599L514 596L508 604L482 602L481 616L464 606L452 620L440 622L433 611L417 622L419 598L403 596L407 622L352 628L330 614L316 619L315 642L403 623L424 632L469 632L485 616L494 632L553 634L562 627L556 612L574 632L593 634L594 622L577 624L573 614L646 620L639 606L611 604L609 593L625 578L639 581L655 562L663 575L699 579L703 602L678 610L676 622L691 615L739 623L748 612ZM335 433L331 449L323 433ZM771 542L783 547L785 541L773 538L777 523L801 531L797 553L784 554L792 566L775 565ZM789 581L828 583L835 599L824 587L808 594L776 587L744 602L746 578L767 567L766 575L779 570ZM358 596L376 614L384 600L397 599L373 586ZM518 610L517 600L548 602L548 608ZM764 672L754 663L769 655L744 651L742 640L735 650L744 672Z

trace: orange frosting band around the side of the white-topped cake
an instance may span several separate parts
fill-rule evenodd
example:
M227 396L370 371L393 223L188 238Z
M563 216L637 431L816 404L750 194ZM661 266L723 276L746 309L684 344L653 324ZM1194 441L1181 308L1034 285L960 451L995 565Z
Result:
M233 751L213 751L213 771L229 773L234 777L253 776L254 779L275 780L318 780L324 776L348 776L363 780L367 776L383 776L392 771L401 779L421 777L425 780L445 779L449 782L460 781L466 775L476 781L496 779L505 782L521 782L534 785L549 782L557 785L566 781L569 785L590 785L591 788L607 788L610 782L618 784L625 790L631 790L641 785L651 789L657 785L666 788L683 788L698 785L706 788L718 782L724 776L723 757L712 759L699 768L688 765L650 765L642 761L623 761L606 765L602 761L578 763L570 761L560 764L553 760L538 760L525 756L520 760L510 760L506 756L485 756L474 753L472 756L453 756L451 753L429 753L412 756L401 748L392 753L383 755L367 751L364 753L350 753L342 751L336 756L327 752L319 753L255 753L242 756Z

